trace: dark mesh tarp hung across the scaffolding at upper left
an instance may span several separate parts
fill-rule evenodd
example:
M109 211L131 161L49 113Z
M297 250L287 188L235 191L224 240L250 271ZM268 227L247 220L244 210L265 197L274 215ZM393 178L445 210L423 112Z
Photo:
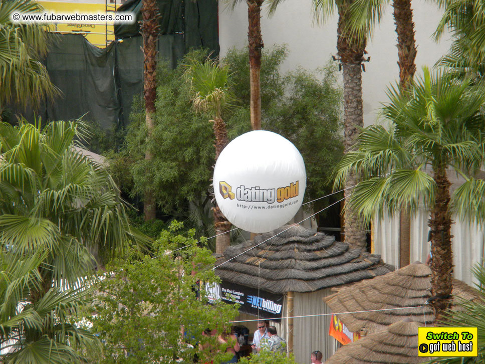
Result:
M159 59L172 67L192 47L218 53L217 3L215 0L159 0ZM139 11L141 0L124 5ZM130 8L131 7L131 8ZM103 128L129 122L134 95L142 95L143 51L137 24L116 27L117 41L105 49L83 36L66 34L53 44L45 60L49 76L62 96L36 112L43 120L83 118ZM23 113L33 119L32 113Z

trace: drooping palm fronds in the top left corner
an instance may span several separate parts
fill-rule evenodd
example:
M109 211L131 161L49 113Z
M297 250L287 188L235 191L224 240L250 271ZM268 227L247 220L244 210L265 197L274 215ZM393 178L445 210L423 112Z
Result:
M7 103L26 107L59 94L40 62L48 51L45 25L11 19L14 13L40 11L42 6L32 0L0 2L0 113Z

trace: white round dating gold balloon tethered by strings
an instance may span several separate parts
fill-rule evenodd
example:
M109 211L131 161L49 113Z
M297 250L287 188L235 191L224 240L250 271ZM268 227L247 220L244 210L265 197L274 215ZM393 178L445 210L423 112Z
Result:
M214 168L217 205L233 225L265 233L288 223L306 187L305 163L288 139L255 130L232 140Z

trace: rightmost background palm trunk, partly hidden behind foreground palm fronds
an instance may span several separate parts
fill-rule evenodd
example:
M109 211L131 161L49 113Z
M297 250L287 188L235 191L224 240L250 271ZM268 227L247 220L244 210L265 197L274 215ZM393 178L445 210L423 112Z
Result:
M397 54L399 65L399 86L402 90L416 72L416 45L414 42L414 23L412 21L411 0L394 0L394 21L397 33ZM401 209L399 218L399 267L410 263L411 219L408 209Z

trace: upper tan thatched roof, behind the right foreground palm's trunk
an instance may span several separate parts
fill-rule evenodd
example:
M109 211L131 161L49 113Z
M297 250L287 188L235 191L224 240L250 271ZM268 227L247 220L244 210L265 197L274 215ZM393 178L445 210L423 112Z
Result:
M454 299L480 299L477 290L456 279L453 280L452 294ZM423 306L430 297L431 270L427 265L415 262L395 272L338 289L337 293L326 297L325 302L333 312L404 308L338 315L350 331L364 329L371 333L406 317L420 324L431 324L434 322L433 310L430 305ZM405 308L414 306L419 307Z

